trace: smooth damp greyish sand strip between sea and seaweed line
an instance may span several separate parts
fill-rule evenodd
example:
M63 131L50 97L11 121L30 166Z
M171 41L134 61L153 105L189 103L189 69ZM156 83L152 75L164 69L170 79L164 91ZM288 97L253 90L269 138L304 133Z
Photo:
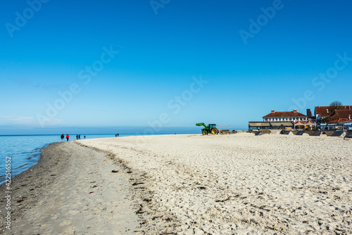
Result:
M49 144L42 148L36 165L11 179L11 230L1 223L0 231L5 234L72 234L73 231L136 234L139 218L134 212L133 193L125 171L103 151L80 146L77 141ZM5 187L5 184L0 186L1 215L6 215ZM101 219L87 222L89 217ZM124 217L125 222L99 224L116 217Z

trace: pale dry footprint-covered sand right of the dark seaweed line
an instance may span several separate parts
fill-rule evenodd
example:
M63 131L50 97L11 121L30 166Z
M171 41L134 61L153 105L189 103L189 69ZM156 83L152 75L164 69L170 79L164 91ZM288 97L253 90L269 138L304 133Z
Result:
M352 234L352 140L232 134L77 143L130 167L146 234Z

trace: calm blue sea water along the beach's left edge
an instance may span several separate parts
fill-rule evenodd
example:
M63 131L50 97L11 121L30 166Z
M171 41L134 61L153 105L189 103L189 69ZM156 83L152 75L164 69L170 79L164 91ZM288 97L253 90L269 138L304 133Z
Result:
M120 137L132 135L137 134L120 134ZM115 134L86 134L86 139L110 137ZM70 140L75 139L76 135L70 134ZM15 177L38 163L42 148L60 141L61 135L0 136L0 184L5 182L6 157L11 157L11 177Z

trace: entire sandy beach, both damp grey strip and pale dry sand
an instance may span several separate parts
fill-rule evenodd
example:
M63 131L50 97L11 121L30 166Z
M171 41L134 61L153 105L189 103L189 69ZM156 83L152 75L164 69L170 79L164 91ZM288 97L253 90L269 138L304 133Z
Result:
M14 179L6 233L352 234L351 153L342 137L246 133L51 144Z

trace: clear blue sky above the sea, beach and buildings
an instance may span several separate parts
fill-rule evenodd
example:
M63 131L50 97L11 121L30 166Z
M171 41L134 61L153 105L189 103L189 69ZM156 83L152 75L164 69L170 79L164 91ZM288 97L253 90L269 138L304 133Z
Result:
M6 1L0 134L246 129L272 109L352 105L351 9L346 0Z

